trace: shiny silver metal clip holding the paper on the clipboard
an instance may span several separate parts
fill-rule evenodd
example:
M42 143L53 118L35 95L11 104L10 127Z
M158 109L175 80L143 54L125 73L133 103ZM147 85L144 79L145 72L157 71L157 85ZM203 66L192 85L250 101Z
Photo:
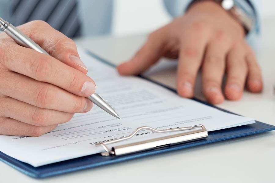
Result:
M185 130L191 130L194 128L200 127L201 129L194 130L194 131L188 131L185 133L180 133L180 134L175 134L175 135L169 135L166 137L159 137L159 138L154 138L150 140L145 140L141 142L135 142L131 144L126 144L126 145L119 145L116 147L112 147L111 149L108 149L106 146L107 144L112 144L120 141L124 141L127 139L132 138L138 131L147 129L147 130L152 130L156 133L166 133L166 132L173 132L173 131L185 131ZM195 126L190 126L190 127L181 127L181 128L174 128L174 129L168 129L168 130L157 130L152 127L139 127L137 128L131 135L119 139L115 139L112 141L108 142L101 142L96 144L96 146L101 145L103 149L105 149L106 152L101 152L102 156L110 156L110 155L124 155L124 154L129 154L129 153L134 153L134 152L139 152L139 151L144 151L148 149L155 149L159 147L164 147L164 146L169 146L172 144L178 144L178 143L183 143L183 142L189 142L193 140L199 140L203 138L207 138L208 133L204 125L195 125Z

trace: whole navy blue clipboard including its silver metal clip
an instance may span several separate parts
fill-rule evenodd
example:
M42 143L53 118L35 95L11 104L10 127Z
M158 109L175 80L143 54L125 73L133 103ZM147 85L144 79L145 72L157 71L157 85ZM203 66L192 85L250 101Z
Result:
M107 62L106 60L96 56L95 54L89 51L87 52L90 56L93 56L104 63L114 66L109 62ZM142 76L139 76L139 77L142 77ZM144 79L147 79L147 78L144 78ZM156 84L159 84L159 83L156 83ZM163 86L163 87L167 88L166 86ZM171 88L167 88L167 89L176 92ZM224 112L231 113L224 109L220 109L216 106L213 106L207 102L203 102L195 98L193 98L193 100L203 103L205 105L214 107L216 109L222 110ZM148 141L126 144L126 145L120 145L120 146L115 145L115 143L118 141L134 138L134 134L139 130L143 130L143 129L149 129L157 133L167 133L171 131L182 131L182 133L176 134L176 135L169 135L162 138L150 139ZM186 130L189 130L189 131L186 132ZM125 138L97 144L98 146L102 146L102 148L105 149L105 152L102 152L99 154L83 156L83 157L79 157L71 160L66 160L66 161L61 161L57 163L40 166L40 167L33 167L30 164L16 160L4 154L3 152L0 152L0 160L28 176L31 176L34 178L46 178L50 176L77 171L77 170L95 168L95 167L108 165L112 163L119 163L119 162L133 160L133 159L137 159L145 156L152 156L160 153L171 152L171 151L185 149L185 148L194 147L198 145L204 145L204 144L219 142L219 141L228 140L232 138L258 134L258 133L271 131L271 130L275 130L275 126L270 124L265 124L259 121L256 121L256 123L254 124L226 128L223 130L210 131L210 132L207 132L207 129L201 124L191 126L191 127L182 127L178 129L169 129L169 130L156 130L151 127L139 127L131 135ZM107 144L112 144L112 147L109 149L106 146Z

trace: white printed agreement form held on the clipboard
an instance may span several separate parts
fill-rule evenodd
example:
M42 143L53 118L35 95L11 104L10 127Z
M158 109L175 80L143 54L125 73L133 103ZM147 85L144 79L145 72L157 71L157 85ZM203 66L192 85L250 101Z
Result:
M119 114L112 117L99 107L85 114L75 114L40 137L0 135L0 151L34 167L104 152L95 144L130 135L140 126L170 129L203 124L207 131L252 124L249 117L222 112L135 76L119 76L116 69L92 58L82 49L79 55L97 84L97 93ZM88 62L87 62L88 61ZM149 130L138 132L120 144L171 135ZM118 143L119 144L119 143Z

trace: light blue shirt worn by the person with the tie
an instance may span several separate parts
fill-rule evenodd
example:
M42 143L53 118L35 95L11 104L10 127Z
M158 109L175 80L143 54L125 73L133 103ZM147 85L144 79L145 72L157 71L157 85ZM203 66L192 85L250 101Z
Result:
M96 36L109 34L112 27L113 4L112 0L79 0L79 16L82 22L83 36ZM163 0L167 11L171 16L181 16L192 0ZM13 1L0 0L0 16L5 20L11 20L11 8ZM253 41L259 36L259 0L235 0L243 9L255 17L255 26L247 35L248 42L253 46Z

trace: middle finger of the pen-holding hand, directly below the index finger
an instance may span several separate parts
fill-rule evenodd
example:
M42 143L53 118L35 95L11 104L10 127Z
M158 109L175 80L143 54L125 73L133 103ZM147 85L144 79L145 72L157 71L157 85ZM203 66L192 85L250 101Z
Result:
M85 97L74 95L52 84L14 72L6 73L6 77L9 78L8 81L0 81L0 93L33 106L66 113L86 113L93 106Z

